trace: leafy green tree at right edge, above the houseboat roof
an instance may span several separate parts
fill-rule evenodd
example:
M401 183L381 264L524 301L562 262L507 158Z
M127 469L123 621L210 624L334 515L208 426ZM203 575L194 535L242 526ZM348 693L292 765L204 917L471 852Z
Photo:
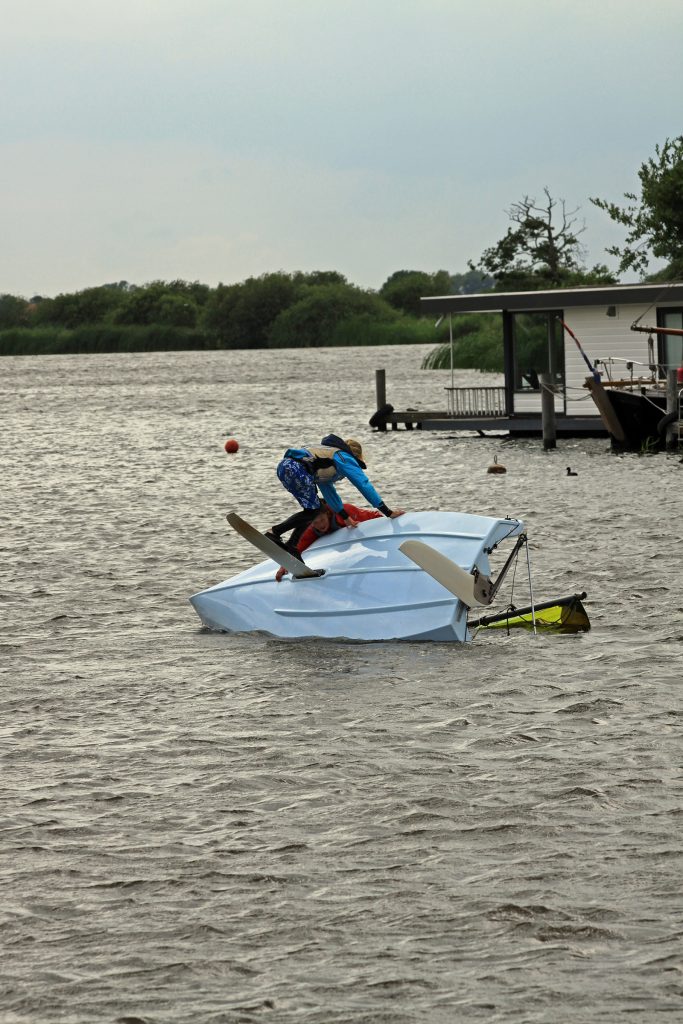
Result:
M647 268L650 258L667 260L665 280L683 275L683 135L655 145L655 156L638 171L640 196L625 193L627 206L604 199L591 203L627 228L626 244L606 251L620 260L620 271Z

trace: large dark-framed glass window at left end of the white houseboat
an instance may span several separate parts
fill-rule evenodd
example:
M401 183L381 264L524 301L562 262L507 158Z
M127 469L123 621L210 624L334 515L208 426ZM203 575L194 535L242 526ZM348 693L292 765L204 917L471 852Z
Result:
M564 386L564 332L561 310L514 313L515 391L540 390L539 374Z

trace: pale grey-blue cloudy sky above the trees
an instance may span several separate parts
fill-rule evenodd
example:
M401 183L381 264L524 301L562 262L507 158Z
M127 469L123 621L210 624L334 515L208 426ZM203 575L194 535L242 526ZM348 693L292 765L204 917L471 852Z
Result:
M681 0L0 0L0 294L466 269L544 185L590 263L683 133Z

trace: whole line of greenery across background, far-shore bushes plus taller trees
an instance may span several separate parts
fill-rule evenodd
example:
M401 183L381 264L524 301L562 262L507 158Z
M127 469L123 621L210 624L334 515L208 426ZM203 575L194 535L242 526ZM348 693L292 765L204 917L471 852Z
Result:
M639 180L640 196L625 194L625 205L591 199L627 229L624 246L607 250L618 260L616 273L644 274L657 258L666 267L645 280L683 278L683 136L656 146ZM264 273L215 288L122 281L54 298L2 294L0 354L431 342L438 336L421 316L425 295L615 284L605 264L586 266L578 213L548 187L538 202L524 196L507 211L503 238L466 271L397 270L378 291L335 270L317 270ZM467 338L459 365L502 369L498 328L486 317L459 321L457 334Z

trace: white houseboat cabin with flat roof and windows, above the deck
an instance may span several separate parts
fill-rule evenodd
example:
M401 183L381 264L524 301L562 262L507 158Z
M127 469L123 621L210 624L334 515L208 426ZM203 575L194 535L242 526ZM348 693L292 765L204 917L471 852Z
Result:
M459 313L501 314L505 388L492 389L499 396L489 396L487 415L512 420L540 416L539 378L549 374L558 418L577 423L595 418L597 424L600 414L584 387L589 362L605 383L647 377L652 366L659 368L657 376L683 366L683 337L654 334L648 339L641 333L643 326L683 328L683 283L443 295L423 298L421 307L434 319L452 317L452 325ZM631 330L636 323L637 332ZM446 388L451 415L477 415L465 409L468 399L458 393L468 390L473 389Z

